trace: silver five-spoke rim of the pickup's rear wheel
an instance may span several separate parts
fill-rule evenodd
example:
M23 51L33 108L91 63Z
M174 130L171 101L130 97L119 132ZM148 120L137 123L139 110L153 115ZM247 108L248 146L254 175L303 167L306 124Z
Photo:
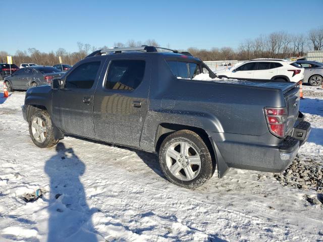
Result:
M175 142L166 152L169 171L180 180L192 180L201 170L201 158L187 142Z

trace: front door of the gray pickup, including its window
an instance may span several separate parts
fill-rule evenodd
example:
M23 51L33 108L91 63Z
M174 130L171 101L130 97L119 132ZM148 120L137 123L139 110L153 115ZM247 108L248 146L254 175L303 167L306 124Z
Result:
M104 59L84 59L68 76L61 89L52 92L54 124L68 134L94 138L93 95Z

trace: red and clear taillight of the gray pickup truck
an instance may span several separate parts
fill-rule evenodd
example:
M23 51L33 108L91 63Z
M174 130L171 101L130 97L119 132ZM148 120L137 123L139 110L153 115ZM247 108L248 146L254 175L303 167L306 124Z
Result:
M285 107L265 107L264 114L269 131L280 138L284 138L287 110Z

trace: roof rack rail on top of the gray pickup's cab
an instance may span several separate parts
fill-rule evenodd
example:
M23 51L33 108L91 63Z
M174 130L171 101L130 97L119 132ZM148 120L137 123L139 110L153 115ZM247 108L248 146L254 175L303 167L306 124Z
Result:
M169 49L169 48L163 48L163 47L142 45L142 46L138 46L138 47L122 47L122 48L114 47L114 48L111 48L111 49L100 49L100 50L96 50L96 51L92 52L91 54L87 55L85 58L91 57L91 56L102 55L102 54L105 54L105 53L111 53L111 52L115 52L115 54L117 54L117 53L122 53L123 51L158 52L157 49L166 49L166 50L170 50L170 51L172 51L174 53L181 53L181 54L185 54L185 55L188 55L188 56L193 56L189 52L179 52L176 49Z

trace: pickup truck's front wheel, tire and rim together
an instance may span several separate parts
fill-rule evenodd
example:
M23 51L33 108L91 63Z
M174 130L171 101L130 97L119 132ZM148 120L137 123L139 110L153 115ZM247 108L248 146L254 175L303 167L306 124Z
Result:
M34 112L29 118L29 134L34 144L40 148L56 145L50 116L45 110Z

